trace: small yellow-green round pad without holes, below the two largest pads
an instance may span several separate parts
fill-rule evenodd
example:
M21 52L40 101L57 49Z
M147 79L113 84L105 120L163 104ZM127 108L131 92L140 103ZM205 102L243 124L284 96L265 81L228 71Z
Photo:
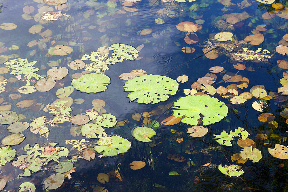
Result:
M150 138L156 135L156 132L151 128L139 126L132 130L132 135L138 141L151 142Z

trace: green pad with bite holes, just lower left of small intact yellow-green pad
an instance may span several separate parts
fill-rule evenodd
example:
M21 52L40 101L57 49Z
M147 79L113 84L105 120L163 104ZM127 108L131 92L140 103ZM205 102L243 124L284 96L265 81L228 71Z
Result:
M112 138L111 142L113 143L108 145L95 146L94 147L95 151L97 151L98 153L104 151L103 153L104 156L111 157L119 153L125 153L126 151L128 151L128 149L130 149L131 143L127 139L124 139L116 135L111 136L111 138ZM105 140L105 138L100 138L98 142L101 142L101 140Z

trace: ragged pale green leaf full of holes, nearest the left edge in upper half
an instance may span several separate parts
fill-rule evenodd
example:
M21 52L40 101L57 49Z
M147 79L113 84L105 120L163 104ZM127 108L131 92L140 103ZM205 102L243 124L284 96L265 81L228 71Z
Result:
M39 68L35 68L33 65L37 61L28 62L27 59L13 59L6 61L4 64L7 65L8 69L11 69L11 74L14 75L24 75L26 79L26 85L30 85L30 79L34 77L35 79L43 78L42 76L36 74Z

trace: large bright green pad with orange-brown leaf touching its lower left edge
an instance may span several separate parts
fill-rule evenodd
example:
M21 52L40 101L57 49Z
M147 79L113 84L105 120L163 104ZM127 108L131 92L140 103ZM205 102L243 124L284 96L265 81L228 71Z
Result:
M174 102L174 117L182 117L181 121L189 125L197 125L202 116L203 125L221 121L227 116L228 107L216 98L201 95L181 97ZM202 116L200 115L202 114Z

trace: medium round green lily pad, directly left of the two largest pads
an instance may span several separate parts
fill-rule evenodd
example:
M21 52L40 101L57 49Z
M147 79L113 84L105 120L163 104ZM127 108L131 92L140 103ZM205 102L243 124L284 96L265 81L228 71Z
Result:
M75 89L86 93L98 93L105 91L110 84L110 78L104 74L90 73L81 75L79 79L73 79L72 85Z

